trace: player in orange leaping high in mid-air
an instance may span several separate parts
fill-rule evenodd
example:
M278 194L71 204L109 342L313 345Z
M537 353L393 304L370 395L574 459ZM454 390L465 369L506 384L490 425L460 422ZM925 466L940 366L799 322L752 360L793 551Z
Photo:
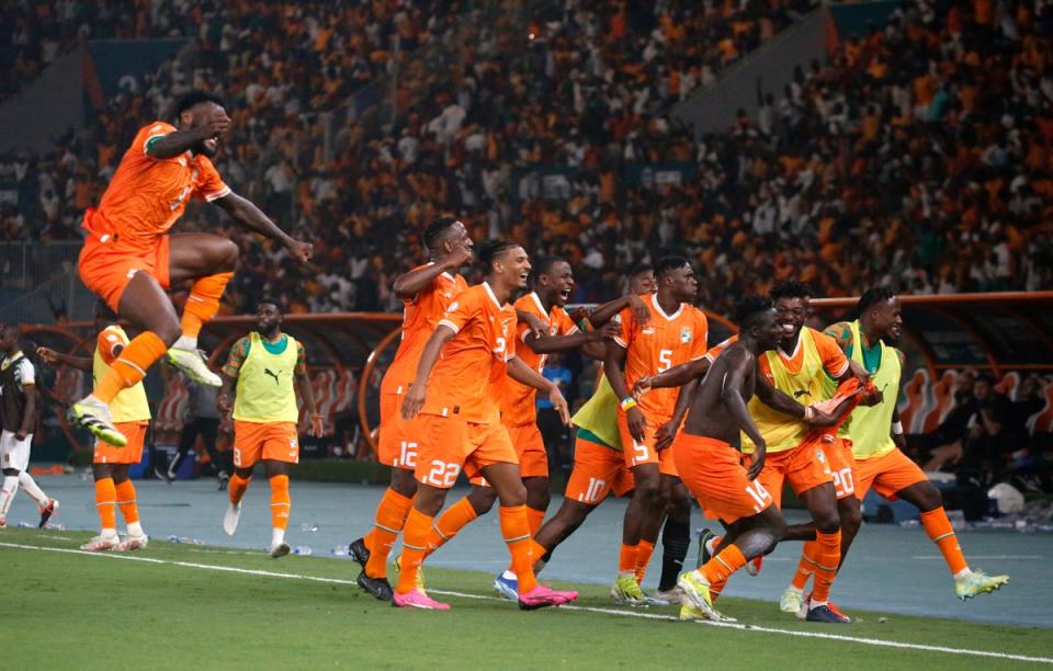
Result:
M216 172L211 159L230 125L219 99L203 91L188 93L176 106L176 126L158 121L138 132L99 207L84 213L80 278L141 332L92 393L71 406L70 418L117 446L127 437L113 425L107 405L141 380L166 352L194 382L222 384L197 352L197 334L219 307L238 247L214 234L168 235L191 196L215 203L238 224L281 241L301 261L313 252L309 243L290 238L234 193ZM165 291L186 280L194 283L180 320Z

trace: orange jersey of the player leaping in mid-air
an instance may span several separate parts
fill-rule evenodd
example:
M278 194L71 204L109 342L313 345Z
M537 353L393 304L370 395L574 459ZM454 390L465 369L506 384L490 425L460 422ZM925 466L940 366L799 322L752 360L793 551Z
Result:
M139 129L99 207L84 214L83 227L90 234L98 238L116 236L124 244L151 248L182 216L191 196L214 201L230 193L206 156L186 151L157 159L146 153L149 140L174 130L165 122Z

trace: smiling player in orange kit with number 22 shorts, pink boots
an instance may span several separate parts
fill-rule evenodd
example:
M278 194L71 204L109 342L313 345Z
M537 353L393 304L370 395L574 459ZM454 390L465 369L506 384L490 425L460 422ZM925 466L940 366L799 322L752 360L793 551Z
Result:
M462 293L439 322L403 401L403 417L420 414L415 425L417 497L406 521L401 570L393 602L400 607L445 610L416 584L428 550L434 515L462 469L482 475L500 500L500 525L519 578L519 605L537 609L577 599L537 583L530 546L526 488L516 448L500 423L495 385L503 367L521 383L544 390L565 418L567 403L558 387L516 357L516 311L508 299L526 285L530 261L522 247L495 241L484 246L479 261L487 281ZM440 355L442 356L440 361Z

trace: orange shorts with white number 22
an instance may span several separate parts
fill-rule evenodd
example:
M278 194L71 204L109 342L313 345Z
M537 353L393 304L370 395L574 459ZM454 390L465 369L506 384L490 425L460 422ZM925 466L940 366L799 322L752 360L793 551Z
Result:
M414 424L418 435L417 481L450 489L464 470L469 479L478 478L487 466L518 464L519 457L500 422L477 424L457 417L421 414ZM482 478L474 485L485 485Z

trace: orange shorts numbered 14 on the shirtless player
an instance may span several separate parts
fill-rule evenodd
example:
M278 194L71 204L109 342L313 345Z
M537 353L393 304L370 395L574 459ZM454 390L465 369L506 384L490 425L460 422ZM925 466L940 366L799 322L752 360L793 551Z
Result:
M749 481L741 455L724 441L680 433L668 452L699 504L725 524L759 514L774 502L760 478Z

